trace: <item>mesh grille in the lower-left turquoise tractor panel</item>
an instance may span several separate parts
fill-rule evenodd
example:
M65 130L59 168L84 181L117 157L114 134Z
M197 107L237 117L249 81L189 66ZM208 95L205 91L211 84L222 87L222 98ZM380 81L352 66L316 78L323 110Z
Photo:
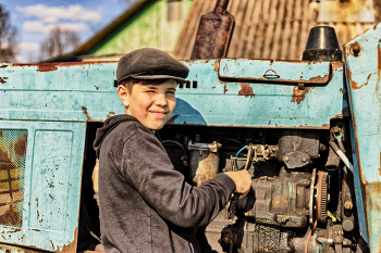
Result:
M0 129L0 225L21 227L27 130Z

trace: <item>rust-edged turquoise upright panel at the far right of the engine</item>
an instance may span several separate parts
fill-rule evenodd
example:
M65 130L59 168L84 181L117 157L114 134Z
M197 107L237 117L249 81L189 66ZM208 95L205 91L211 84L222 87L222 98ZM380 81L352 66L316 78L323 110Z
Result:
M381 25L344 45L356 202L371 252L381 251Z

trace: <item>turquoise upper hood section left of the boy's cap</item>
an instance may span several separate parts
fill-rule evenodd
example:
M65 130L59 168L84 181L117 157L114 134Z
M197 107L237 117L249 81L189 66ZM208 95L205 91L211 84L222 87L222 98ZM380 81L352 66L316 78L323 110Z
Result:
M86 122L124 113L115 68L116 63L1 67L0 118Z

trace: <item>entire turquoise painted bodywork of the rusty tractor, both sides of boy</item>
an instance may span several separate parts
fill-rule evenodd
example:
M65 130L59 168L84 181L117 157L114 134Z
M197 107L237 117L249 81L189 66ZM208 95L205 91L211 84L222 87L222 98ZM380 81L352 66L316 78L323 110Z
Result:
M381 26L345 61L184 61L170 125L329 129L349 118L360 231L381 250ZM360 48L354 53L354 47ZM0 64L0 243L75 252L86 127L124 113L115 62ZM13 248L12 248L13 246Z

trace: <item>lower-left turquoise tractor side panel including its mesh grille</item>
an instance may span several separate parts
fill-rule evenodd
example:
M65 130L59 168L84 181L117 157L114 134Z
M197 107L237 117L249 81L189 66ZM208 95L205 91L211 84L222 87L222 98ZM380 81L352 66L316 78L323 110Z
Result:
M7 195L9 207L0 192L0 243L75 252L85 131L85 123L0 121L0 177L16 181L0 189L23 189ZM1 223L11 208L20 223Z

